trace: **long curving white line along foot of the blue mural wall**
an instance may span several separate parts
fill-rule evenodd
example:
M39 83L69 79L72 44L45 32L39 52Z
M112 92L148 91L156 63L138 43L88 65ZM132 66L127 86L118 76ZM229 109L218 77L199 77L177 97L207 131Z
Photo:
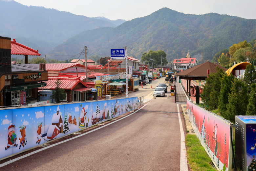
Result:
M149 103L149 102L148 102L148 103ZM148 103L147 103L147 104L148 104ZM147 104L145 104L144 106L146 106ZM131 113L130 115L127 115L126 117L129 117L129 116L135 114L135 113L138 112L140 109L142 109L144 106L142 106L141 108L139 108L137 111ZM115 123L115 122L117 122L117 121L119 121L119 120L122 120L122 119L124 119L124 118L126 118L126 117L122 117L122 118L120 118L120 119L118 119L118 120L116 120L116 121L114 121L114 122L111 122L111 123L109 123L109 124L107 124L107 125L104 125L104 126L101 126L101 127L99 127L99 128L96 128L96 129L94 129L94 130L92 130L92 131L88 131L88 132L82 133L82 134L77 135L77 136L75 136L75 137L73 137L73 138L70 138L70 139L61 141L61 142L59 142L59 143L56 143L56 144L53 144L53 145L50 145L50 146L47 146L47 147L44 147L44 148L35 150L35 151L33 151L33 152L31 152L31 153L28 153L28 154L25 154L25 155L23 155L23 156L17 157L17 158L12 159L12 160L10 160L10 161L8 161L8 162L5 162L5 163L0 164L0 167L3 167L3 166L5 166L5 165L7 165L7 164L16 162L16 161L18 161L18 160L20 160L20 159L23 159L23 158L25 158L25 157L31 156L32 154L38 153L38 152L43 151L43 150L45 150L45 149L48 149L48 148L57 146L57 145L59 145L59 144L68 142L68 141L70 141L70 140L73 140L73 139L78 138L78 137L80 137L80 136L86 135L86 134L88 134L88 133L97 131L97 130L99 130L99 129L101 129L101 128L104 128L104 127L106 127L106 126L108 126L108 125L110 125L110 124L113 124L113 123Z

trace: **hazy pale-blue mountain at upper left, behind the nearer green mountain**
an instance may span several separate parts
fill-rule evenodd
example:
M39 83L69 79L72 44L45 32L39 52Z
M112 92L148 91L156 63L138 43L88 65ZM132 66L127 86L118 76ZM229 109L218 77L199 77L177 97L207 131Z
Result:
M0 35L12 39L26 37L60 44L85 30L116 27L108 21L56 9L28 7L13 0L0 0L0 7Z

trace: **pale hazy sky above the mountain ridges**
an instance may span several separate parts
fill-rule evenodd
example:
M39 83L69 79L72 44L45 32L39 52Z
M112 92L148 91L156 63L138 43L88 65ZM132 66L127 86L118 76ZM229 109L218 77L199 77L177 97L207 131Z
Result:
M256 19L256 0L15 0L27 6L43 6L87 17L132 20L167 7L185 14L215 12Z

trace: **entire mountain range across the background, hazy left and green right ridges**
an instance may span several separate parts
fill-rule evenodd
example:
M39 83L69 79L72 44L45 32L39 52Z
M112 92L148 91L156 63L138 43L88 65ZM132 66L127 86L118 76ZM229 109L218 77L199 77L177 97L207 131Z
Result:
M131 21L111 21L23 6L15 1L0 1L0 6L1 36L17 38L31 48L41 48L39 52L53 55L78 54L87 46L89 56L104 57L110 54L110 49L128 46L134 49L128 48L129 55L138 59L149 50L163 50L170 62L187 52L203 57L204 62L234 43L256 38L255 19L217 13L194 15L161 8Z

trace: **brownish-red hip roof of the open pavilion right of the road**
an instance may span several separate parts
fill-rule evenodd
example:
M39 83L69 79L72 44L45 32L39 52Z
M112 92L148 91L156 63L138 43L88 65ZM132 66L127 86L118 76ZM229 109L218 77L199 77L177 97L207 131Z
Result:
M195 77L207 77L207 70L210 70L210 73L214 72L216 73L216 67L219 67L226 71L227 69L224 67L221 67L219 65L216 65L211 62L205 62L203 64L197 65L193 68L190 68L188 70L184 70L182 72L179 72L175 75L177 76L195 76Z

